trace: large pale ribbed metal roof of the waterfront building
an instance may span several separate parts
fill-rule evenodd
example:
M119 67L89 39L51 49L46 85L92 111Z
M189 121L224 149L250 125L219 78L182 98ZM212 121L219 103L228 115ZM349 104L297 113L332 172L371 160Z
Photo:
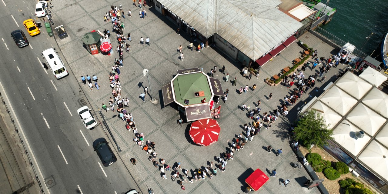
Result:
M302 24L277 6L280 0L158 0L206 38L220 35L253 61Z

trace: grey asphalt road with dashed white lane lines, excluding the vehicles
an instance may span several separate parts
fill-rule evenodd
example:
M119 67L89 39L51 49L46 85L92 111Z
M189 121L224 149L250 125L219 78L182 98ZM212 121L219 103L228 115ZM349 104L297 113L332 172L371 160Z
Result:
M120 159L104 167L94 152L93 141L107 137L101 125L87 130L78 118L76 110L85 96L72 73L56 80L40 64L45 62L42 50L56 47L47 33L31 37L23 27L25 19L36 19L31 15L35 1L4 3L7 7L0 2L0 83L33 150L45 179L41 181L54 180L47 184L49 193L124 193L135 188ZM17 48L10 36L15 29L24 31L31 46Z

